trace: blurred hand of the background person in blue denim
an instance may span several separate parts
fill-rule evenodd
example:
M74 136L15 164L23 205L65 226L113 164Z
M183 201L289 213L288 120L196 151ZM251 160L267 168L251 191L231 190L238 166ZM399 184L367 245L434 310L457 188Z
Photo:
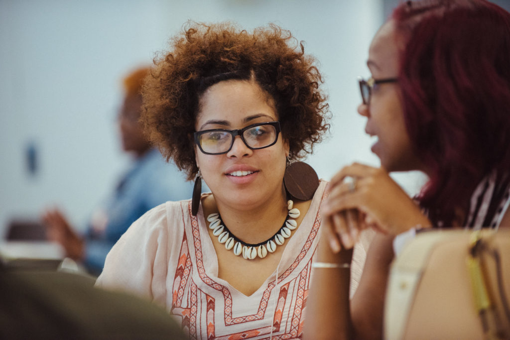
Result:
M48 210L42 215L49 240L58 242L64 248L66 256L74 260L84 257L84 240L74 232L65 216L58 210Z

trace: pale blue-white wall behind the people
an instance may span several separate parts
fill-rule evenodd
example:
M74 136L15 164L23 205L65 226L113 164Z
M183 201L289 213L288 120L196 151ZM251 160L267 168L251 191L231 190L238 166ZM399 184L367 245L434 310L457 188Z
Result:
M187 19L291 30L321 62L334 114L308 162L323 178L353 161L378 165L356 114L356 77L368 74L381 13L379 0L0 0L1 225L49 205L83 225L129 161L115 126L122 76L150 62ZM39 155L33 176L30 143Z

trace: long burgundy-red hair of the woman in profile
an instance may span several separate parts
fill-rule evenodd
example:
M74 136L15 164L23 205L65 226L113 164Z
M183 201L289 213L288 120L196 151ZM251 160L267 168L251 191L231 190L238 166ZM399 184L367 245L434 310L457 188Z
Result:
M510 170L510 13L483 0L408 1L392 19L406 128L430 175L419 201L448 226L484 176Z

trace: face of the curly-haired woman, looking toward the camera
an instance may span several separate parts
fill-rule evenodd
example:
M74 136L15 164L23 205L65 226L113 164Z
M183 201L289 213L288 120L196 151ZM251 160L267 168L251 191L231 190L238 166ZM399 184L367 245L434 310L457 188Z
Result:
M259 85L230 80L211 86L201 96L195 130L240 129L277 120L272 99ZM283 193L289 147L281 134L274 145L264 149L252 150L236 136L227 153L205 154L198 146L195 152L201 175L218 205L248 209Z

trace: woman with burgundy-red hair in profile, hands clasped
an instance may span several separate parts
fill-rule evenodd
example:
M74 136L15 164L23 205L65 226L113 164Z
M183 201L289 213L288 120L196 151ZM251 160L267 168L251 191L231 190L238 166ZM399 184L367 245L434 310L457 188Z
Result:
M354 163L331 180L314 274L328 290L307 303L314 339L382 336L390 264L417 230L510 225L510 14L483 0L401 3L367 65L358 112L381 167ZM414 199L389 176L411 170L428 177ZM344 268L365 228L378 233L349 308Z

